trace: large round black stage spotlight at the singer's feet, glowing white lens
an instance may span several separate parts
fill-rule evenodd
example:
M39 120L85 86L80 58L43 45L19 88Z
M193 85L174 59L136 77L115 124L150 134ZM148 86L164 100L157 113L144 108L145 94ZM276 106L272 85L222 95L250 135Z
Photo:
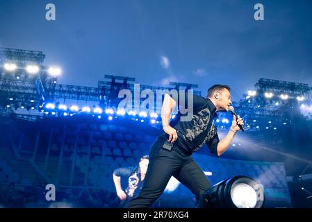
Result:
M262 208L263 187L247 176L222 180L200 196L201 208Z

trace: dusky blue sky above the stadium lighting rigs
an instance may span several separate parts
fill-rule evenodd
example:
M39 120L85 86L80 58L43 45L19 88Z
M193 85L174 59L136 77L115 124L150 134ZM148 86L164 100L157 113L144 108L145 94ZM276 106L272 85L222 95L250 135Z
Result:
M45 19L47 3L56 21ZM256 3L264 21L254 20ZM228 84L242 98L259 78L312 85L311 8L309 0L0 0L0 46L43 51L44 65L62 67L61 84L95 87L112 74L195 83L205 96Z

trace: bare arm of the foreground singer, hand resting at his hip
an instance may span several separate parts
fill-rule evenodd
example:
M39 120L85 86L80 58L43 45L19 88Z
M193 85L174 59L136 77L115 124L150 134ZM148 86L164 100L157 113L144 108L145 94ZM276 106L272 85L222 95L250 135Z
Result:
M176 130L169 125L170 116L175 106L176 101L174 101L168 94L165 94L163 108L161 109L161 119L163 123L163 130L167 133L167 135L169 135L168 141L172 143L178 138Z

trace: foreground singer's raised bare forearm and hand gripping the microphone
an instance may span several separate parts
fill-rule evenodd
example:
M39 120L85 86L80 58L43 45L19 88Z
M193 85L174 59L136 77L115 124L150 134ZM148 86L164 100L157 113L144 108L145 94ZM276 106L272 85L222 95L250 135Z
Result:
M217 144L217 155L222 155L225 151L227 151L227 148L229 147L229 144L231 144L231 141L236 134L238 130L240 130L238 124L244 126L244 122L240 116L238 116L238 120L236 121L236 117L233 116L232 126L229 130L229 133L220 140L220 142Z

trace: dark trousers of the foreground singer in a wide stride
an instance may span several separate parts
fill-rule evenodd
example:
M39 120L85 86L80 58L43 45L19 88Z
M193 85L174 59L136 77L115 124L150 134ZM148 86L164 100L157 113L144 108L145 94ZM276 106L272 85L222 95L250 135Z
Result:
M188 187L197 200L211 187L211 182L192 159L190 153L174 143L171 151L163 147L166 139L158 138L151 146L149 167L139 194L130 200L126 208L150 207L163 194L171 176Z

